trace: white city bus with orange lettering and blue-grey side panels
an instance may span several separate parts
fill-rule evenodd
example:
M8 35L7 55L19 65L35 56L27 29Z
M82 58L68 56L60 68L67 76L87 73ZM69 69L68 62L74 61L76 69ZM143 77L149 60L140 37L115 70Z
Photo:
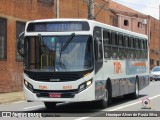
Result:
M27 101L47 109L61 102L138 98L149 85L146 35L87 19L29 21L19 36Z

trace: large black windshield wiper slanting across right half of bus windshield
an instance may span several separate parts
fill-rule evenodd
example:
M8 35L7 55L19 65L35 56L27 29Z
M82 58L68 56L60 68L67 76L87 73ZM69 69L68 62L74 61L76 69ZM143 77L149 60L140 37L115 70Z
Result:
M65 51L65 49L68 47L69 43L72 41L72 39L74 38L75 33L72 33L69 38L67 39L67 41L64 43L62 43L61 45L61 51L60 51L60 56L59 56L59 61L61 60L61 55L62 55L62 51Z

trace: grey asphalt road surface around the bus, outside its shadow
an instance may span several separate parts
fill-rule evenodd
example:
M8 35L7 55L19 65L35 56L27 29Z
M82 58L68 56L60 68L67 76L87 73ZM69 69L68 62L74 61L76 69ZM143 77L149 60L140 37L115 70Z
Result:
M148 109L144 109L144 106L142 104L142 101L144 100L149 102L149 104L147 105ZM151 109L149 109L149 107ZM112 103L109 104L108 107L105 109L98 109L94 102L83 102L58 104L55 109L53 109L52 111L48 111L46 110L42 102L28 103L25 101L19 101L0 105L0 111L25 111L27 113L48 113L53 115L54 119L62 119L62 117L65 117L65 120L97 120L98 118L105 120L159 120L160 117L106 117L106 114L108 114L111 111L160 111L160 81L152 81L149 86L140 91L140 96L138 99L132 100L123 97L115 98L113 99Z

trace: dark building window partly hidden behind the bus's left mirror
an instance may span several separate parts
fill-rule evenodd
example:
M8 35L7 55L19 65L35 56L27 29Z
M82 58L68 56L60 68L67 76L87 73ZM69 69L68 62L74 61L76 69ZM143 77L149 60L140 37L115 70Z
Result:
M16 43L18 42L18 36L19 36L19 34L22 33L22 32L24 32L25 24L26 24L25 22L16 22ZM23 60L23 58L17 52L17 47L16 47L16 60L17 61L22 61Z

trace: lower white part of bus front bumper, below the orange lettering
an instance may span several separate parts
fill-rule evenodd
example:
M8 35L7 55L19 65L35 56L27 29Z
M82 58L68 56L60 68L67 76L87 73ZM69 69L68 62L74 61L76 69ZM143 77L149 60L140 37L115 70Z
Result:
M48 96L38 96L37 94L43 94L44 92L37 92L33 93L31 92L26 86L24 88L24 94L27 101L41 101L41 102L80 102L80 101L92 101L95 100L95 92L94 92L94 85L92 84L85 90L75 93L75 94L68 94L69 97L63 97L63 98L50 98ZM51 92L53 93L53 92ZM67 95L65 93L62 93L64 95Z

